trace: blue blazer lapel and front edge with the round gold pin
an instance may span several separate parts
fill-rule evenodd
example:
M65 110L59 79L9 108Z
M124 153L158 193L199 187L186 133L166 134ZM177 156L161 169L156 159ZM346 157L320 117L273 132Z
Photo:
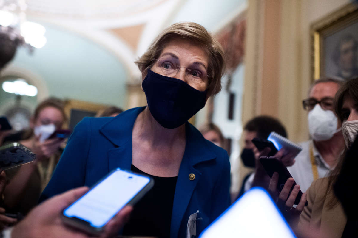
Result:
M178 237L180 224L182 223L190 198L202 176L202 173L194 168L194 165L216 158L216 155L207 149L204 138L195 127L187 123L185 131L187 133L187 144L185 145L185 152L175 186L170 225L171 238ZM195 174L195 179L193 180L189 179L189 174L191 173Z

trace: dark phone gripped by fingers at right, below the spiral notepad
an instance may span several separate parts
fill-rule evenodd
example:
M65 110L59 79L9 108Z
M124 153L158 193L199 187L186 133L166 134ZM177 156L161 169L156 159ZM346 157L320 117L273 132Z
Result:
M270 178L272 178L274 172L279 173L279 182L277 183L277 189L281 192L287 179L292 178L286 166L284 166L284 164L276 157L269 157L269 156L261 156L260 163L262 164L263 168L265 168L265 171L267 174L269 174ZM297 184L296 182L293 183L290 193L296 184ZM302 191L300 190L297 194L294 204L297 205L300 202L301 196L302 196ZM306 201L305 206L307 205L308 202Z

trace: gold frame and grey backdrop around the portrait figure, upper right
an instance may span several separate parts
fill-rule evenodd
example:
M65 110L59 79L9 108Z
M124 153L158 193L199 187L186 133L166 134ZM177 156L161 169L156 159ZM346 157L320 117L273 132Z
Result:
M358 5L347 4L315 22L310 27L310 34L312 79L316 80L321 77L346 79L348 76L347 74L345 74L347 77L343 76L344 69L340 69L342 64L337 60L337 50L342 47L342 40L347 39L348 35L358 42ZM355 54L357 54L357 49L355 49ZM357 62L354 64L358 68Z

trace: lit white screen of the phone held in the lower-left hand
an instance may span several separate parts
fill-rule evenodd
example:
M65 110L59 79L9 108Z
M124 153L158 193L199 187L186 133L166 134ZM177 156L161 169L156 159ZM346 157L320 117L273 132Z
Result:
M104 226L148 183L150 178L117 169L63 211L66 217Z

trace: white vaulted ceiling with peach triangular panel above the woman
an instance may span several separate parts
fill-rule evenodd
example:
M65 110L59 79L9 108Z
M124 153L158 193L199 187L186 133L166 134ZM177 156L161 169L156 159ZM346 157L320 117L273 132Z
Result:
M95 41L117 56L127 80L138 80L134 60L164 27L194 21L217 30L245 10L247 0L27 0L29 20L50 23Z

